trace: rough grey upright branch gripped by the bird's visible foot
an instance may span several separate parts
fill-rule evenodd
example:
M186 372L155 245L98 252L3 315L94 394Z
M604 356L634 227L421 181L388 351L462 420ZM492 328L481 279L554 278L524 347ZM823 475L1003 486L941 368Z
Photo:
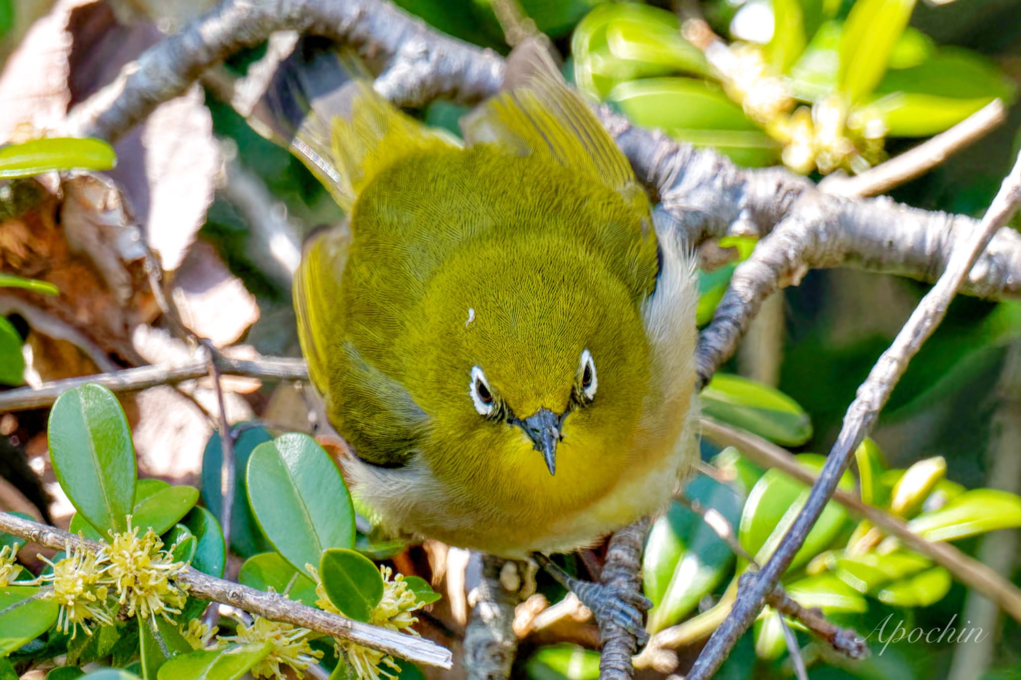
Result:
M610 539L600 582L617 590L641 593L641 548L651 524L645 517L624 527ZM602 651L599 657L601 680L630 680L634 677L631 658L638 650L634 635L613 621L599 622Z

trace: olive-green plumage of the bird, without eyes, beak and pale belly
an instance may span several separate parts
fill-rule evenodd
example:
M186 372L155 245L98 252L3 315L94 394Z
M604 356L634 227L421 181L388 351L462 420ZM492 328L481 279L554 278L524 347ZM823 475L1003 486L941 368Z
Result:
M312 380L360 459L428 475L420 492L451 506L408 519L419 500L396 499L385 520L498 553L540 547L529 544L537 524L594 508L673 449L659 431L679 426L650 416L666 387L648 336L648 201L584 104L552 82L473 114L467 147L368 88L351 112L334 124L349 224L311 241L295 285ZM579 399L585 350L598 371L591 400ZM473 366L503 416L473 406ZM555 475L510 422L540 408L569 412ZM486 522L495 543L456 528Z

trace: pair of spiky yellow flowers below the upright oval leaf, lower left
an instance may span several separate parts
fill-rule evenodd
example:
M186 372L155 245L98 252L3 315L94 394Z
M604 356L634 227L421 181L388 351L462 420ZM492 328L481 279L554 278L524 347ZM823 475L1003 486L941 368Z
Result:
M71 631L72 638L79 628L91 635L95 625L111 624L120 613L147 619L159 615L173 623L167 615L180 614L187 598L185 587L172 580L187 565L162 550L152 529L139 538L129 517L128 530L110 532L110 538L98 552L68 543L62 560L42 558L52 572L37 582L49 586L43 596L60 606L57 626Z

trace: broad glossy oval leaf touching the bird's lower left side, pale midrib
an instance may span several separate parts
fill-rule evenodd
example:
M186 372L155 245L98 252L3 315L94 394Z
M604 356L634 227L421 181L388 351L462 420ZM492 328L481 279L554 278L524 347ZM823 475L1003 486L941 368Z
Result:
M248 460L248 502L273 546L304 571L323 551L354 545L354 509L340 470L306 434L260 443Z

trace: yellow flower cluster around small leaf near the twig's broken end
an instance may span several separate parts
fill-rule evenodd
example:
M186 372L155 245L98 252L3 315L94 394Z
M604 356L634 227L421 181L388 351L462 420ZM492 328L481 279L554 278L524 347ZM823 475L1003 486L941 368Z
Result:
M326 612L339 615L340 611L326 594L326 588L323 587L319 572L311 565L305 565L305 569L315 577L315 594L319 595L315 606ZM369 623L389 630L405 631L418 635L419 631L411 626L419 620L411 615L411 612L420 609L422 603L407 587L402 574L393 576L393 570L386 566L380 566L380 573L383 575L383 598L373 610ZM391 578L391 576L393 577ZM343 652L347 658L347 663L351 665L360 680L380 680L381 677L396 678L397 676L390 671L400 671L400 667L397 666L393 658L379 649L346 640L338 641L336 646L337 655L340 656Z

